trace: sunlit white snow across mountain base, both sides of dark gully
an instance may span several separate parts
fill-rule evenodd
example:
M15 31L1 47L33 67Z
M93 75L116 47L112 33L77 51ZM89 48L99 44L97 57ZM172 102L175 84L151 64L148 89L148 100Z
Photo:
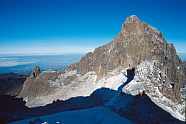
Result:
M153 63L144 61L138 65L134 79L123 87L122 91L131 95L138 95L145 91L156 105L169 112L173 117L185 121L185 103L175 103L161 94L158 89L161 83L160 70ZM97 80L95 72L80 75L75 70L69 71L61 74L55 81L49 81L50 86L56 88L53 94L27 100L26 105L28 107L44 106L57 99L67 100L77 96L89 96L93 91L102 87L118 90L118 87L127 80L123 73L126 73L126 68L118 67L102 79ZM166 85L170 86L170 84Z

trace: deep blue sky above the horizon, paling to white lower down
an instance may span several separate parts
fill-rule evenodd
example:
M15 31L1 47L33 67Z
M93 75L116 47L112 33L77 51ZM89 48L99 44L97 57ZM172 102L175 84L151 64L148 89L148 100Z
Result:
M0 54L84 53L110 42L129 15L186 53L185 0L0 0Z

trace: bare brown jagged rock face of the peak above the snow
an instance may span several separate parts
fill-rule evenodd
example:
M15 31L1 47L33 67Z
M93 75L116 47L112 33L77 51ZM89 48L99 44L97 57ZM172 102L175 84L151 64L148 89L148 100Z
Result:
M140 21L137 16L126 19L121 32L112 42L86 54L69 70L77 69L81 74L95 71L99 79L118 66L136 67L145 60L155 61L162 79L174 84L172 99L179 99L184 74L173 44L167 43L161 32Z

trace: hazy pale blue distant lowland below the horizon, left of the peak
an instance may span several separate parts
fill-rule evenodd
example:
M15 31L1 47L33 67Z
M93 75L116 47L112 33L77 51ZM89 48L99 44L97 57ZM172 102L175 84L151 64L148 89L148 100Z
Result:
M69 64L78 62L81 54L37 55L37 56L4 56L0 57L0 74L30 74L34 66L42 71L63 71Z

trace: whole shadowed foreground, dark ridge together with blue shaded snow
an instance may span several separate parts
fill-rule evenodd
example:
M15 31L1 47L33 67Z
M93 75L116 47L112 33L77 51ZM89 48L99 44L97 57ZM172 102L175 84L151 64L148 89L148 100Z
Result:
M24 120L11 124L184 124L145 94L133 96L108 88L97 89L87 97L22 110L17 117Z

